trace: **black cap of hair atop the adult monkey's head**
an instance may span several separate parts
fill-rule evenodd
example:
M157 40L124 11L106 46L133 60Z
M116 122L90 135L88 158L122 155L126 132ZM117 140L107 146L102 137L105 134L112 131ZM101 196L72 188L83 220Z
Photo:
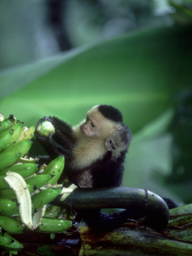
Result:
M114 122L123 122L122 113L113 106L99 105L98 110L104 115L104 117Z

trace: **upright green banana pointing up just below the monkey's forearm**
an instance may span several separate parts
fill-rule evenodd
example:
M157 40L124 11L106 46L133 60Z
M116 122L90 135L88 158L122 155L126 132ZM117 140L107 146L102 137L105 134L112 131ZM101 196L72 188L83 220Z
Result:
M53 159L43 172L43 174L51 174L53 175L52 179L49 180L49 183L55 184L59 177L62 174L62 171L64 170L64 164L65 164L65 158L64 156L57 156L55 159Z

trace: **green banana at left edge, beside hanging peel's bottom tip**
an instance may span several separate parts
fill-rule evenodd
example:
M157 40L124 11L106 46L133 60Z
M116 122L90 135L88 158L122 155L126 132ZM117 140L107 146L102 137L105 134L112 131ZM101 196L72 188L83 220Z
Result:
M0 215L0 226L8 233L20 234L23 233L23 226L14 218Z

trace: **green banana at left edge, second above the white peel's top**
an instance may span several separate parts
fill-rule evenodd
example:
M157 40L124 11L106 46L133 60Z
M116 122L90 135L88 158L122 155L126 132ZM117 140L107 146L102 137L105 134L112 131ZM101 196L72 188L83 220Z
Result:
M0 153L0 171L11 166L15 163L16 160L20 158L19 152L7 152L4 153L4 150Z

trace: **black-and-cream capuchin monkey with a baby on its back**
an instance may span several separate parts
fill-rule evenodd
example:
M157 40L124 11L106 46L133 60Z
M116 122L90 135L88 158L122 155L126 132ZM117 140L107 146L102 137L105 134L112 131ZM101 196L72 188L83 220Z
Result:
M113 106L97 105L87 112L86 119L76 127L56 117L44 117L38 122L50 121L55 134L39 135L37 140L51 159L65 156L64 175L80 188L118 187L122 184L124 159L131 142L131 130L124 125L120 111ZM62 182L64 177L60 177ZM138 219L132 209L119 213L103 213L100 209L77 210L76 220L84 219L93 229L111 229Z

